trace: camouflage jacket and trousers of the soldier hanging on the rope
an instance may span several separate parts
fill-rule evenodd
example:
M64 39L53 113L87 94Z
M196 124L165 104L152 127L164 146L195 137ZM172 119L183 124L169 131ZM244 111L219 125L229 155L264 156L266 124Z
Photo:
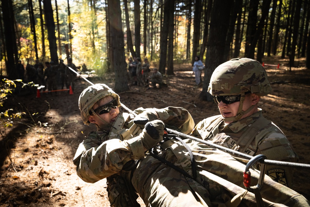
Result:
M135 110L137 114L142 111L144 111L142 108ZM183 133L191 132L194 122L187 110L167 107L156 111L167 128L174 126ZM184 139L183 142L193 153L196 160L194 165L187 147L176 139L161 142L156 149L154 148L155 154L162 159L159 160L144 151L139 136L127 136L127 130L133 125L132 118L126 113L121 113L110 131L91 133L79 145L73 162L82 180L93 183L119 174L122 179L113 178L115 184L113 189L117 188L116 183L125 182L129 185L129 190L126 191L134 189L146 206L173 207L180 204L182 206L224 206L223 204L227 202L231 203L233 197L239 193L244 195L239 206L256 205L255 195L247 192L243 187L244 164L228 153L208 148L190 139ZM118 119L123 120L124 123L118 122ZM131 160L139 161L130 171L125 171L124 168L128 169L126 163ZM188 176L164 161L182 169ZM195 179L192 178L193 169L197 173ZM259 172L250 171L252 181L257 183ZM125 190L122 192L122 188L118 192L113 189L108 187L108 194L114 195L111 206L134 206L119 203L117 195L127 193ZM286 203L288 206L309 206L303 196L268 177L264 179L262 197L264 205ZM111 202L111 199L109 200Z

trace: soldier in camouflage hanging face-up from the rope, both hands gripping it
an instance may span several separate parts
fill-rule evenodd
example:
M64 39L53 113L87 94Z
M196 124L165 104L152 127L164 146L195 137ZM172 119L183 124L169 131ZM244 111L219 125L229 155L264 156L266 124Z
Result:
M73 159L83 181L107 178L111 206L139 206L136 193L153 207L226 206L236 204L233 197L239 193L234 200L240 206L255 205L254 194L243 188L244 164L199 142L163 137L164 127L192 131L187 110L138 108L128 114L120 113L120 106L119 96L104 84L81 93L83 122L95 124L98 131L86 137ZM259 173L250 171L257 182ZM261 192L264 205L309 206L303 196L268 177Z

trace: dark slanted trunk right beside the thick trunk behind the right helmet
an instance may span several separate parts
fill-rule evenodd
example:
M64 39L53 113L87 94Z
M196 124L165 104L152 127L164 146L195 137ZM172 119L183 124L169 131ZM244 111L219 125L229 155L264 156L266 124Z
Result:
M224 50L224 61L228 61L229 59L229 52L230 52L230 45L232 43L232 38L234 35L235 27L236 27L236 19L238 15L238 8L242 7L242 0L236 0L233 3L231 8L231 15L230 15L230 23L228 27L228 33L226 38L225 50Z

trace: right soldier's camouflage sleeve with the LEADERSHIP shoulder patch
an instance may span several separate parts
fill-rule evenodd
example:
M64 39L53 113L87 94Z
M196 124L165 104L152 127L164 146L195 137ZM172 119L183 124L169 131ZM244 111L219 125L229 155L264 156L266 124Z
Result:
M298 161L298 155L293 146L275 124L267 125L257 136L261 137L256 138L256 140L259 140L256 145L258 148L257 154L266 155L268 160ZM291 167L267 165L266 174L282 185L293 187L293 170L294 168Z

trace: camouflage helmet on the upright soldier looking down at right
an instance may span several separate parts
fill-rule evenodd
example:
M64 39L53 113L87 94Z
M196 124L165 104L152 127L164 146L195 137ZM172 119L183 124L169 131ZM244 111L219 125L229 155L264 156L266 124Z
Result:
M250 91L258 96L266 96L271 89L266 70L258 61L235 58L214 70L208 92L213 96L226 96Z

